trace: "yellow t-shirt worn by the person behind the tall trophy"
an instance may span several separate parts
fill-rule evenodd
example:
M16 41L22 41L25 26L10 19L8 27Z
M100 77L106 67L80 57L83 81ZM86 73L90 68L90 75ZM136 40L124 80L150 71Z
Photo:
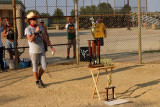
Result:
M106 30L106 27L103 23L96 24L96 30L95 30L95 38L101 38L105 37L104 30Z

